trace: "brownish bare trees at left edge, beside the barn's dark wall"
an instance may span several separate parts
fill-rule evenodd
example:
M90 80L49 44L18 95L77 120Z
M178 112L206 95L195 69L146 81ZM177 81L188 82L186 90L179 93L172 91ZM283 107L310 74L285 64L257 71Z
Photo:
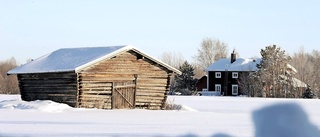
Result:
M7 72L17 67L16 60L14 58L0 62L0 93L2 94L18 94L18 80L14 75L7 75Z

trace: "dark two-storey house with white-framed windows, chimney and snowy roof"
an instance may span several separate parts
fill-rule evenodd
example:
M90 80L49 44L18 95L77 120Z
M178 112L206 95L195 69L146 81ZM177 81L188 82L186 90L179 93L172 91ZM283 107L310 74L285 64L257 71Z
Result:
M231 58L216 61L206 69L208 92L203 92L203 95L241 95L238 86L240 76L257 71L260 61L260 58L236 58L235 53L231 54Z

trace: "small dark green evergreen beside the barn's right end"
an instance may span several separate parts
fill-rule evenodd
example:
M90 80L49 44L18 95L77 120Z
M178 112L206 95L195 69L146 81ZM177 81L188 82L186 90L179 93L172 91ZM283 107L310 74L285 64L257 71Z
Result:
M182 95L192 95L195 91L195 78L194 78L194 67L185 61L179 70L182 72L181 75L176 75L176 86L175 92L180 92Z

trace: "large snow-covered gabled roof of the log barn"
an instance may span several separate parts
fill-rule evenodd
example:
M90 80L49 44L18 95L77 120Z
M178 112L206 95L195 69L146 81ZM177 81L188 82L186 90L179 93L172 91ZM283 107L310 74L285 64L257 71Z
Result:
M132 50L147 59L177 73L179 70L168 64L155 59L137 48L125 46L111 47L85 47L85 48L62 48L52 53L44 55L20 67L14 68L8 74L27 74L27 73L50 73L50 72L69 72L81 70L90 65L105 59L110 59L118 54Z

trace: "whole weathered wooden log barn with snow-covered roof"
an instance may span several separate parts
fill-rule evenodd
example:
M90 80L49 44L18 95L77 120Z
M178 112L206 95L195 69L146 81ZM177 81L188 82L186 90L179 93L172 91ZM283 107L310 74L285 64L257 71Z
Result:
M181 72L133 46L64 48L12 69L22 100L72 107L164 109Z

